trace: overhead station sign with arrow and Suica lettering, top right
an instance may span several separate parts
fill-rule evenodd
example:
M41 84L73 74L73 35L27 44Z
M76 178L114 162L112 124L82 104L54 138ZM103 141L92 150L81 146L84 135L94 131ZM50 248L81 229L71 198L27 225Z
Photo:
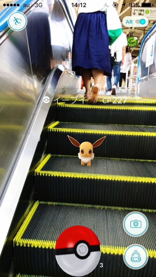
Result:
M146 16L149 20L156 20L156 8L132 8L131 16Z

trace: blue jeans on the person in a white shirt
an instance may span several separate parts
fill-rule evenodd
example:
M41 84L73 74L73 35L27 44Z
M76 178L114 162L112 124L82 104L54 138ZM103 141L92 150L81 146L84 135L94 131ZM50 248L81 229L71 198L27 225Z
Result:
M117 86L119 79L120 79L120 67L121 67L121 61L117 61L116 64L111 65L111 70L113 70L114 75L114 84ZM111 76L107 76L107 88L109 90L112 90L112 83L111 83Z

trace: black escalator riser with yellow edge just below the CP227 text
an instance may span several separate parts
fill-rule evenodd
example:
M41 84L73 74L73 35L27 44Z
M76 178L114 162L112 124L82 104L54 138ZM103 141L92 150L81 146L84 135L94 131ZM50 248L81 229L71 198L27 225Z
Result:
M57 120L92 124L156 125L156 107L58 103Z

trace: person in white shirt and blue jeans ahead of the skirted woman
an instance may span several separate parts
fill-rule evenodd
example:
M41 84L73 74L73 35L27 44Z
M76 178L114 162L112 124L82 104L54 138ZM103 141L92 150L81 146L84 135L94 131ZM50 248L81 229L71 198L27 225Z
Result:
M111 70L113 70L114 84L112 86L111 76L107 76L107 95L116 95L117 84L120 79L120 67L124 64L126 54L127 37L122 32L118 39L111 45ZM112 55L112 52L114 55Z

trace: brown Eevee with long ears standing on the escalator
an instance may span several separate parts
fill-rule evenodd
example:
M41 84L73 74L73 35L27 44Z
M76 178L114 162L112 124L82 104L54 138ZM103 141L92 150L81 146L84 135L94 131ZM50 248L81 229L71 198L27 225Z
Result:
M85 163L87 163L88 166L91 166L91 160L94 159L93 147L99 146L101 143L103 143L105 138L106 138L106 136L97 140L92 145L88 141L82 142L80 144L77 140L68 136L68 139L70 139L70 141L73 145L80 147L80 153L78 153L78 157L81 160L81 165L84 165Z

